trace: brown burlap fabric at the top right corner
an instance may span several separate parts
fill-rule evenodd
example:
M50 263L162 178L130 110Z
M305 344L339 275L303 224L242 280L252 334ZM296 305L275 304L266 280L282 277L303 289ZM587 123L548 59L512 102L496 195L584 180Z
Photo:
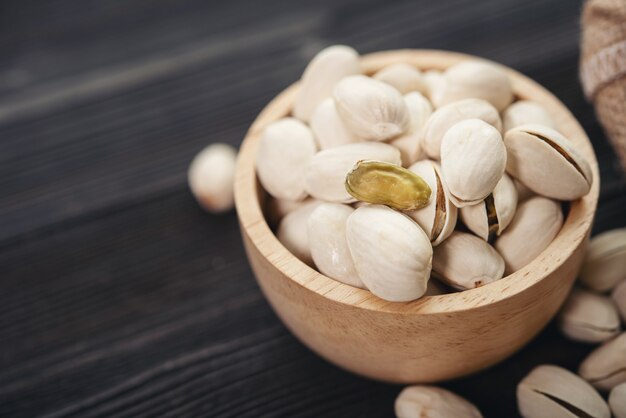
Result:
M626 0L585 4L580 78L626 170Z

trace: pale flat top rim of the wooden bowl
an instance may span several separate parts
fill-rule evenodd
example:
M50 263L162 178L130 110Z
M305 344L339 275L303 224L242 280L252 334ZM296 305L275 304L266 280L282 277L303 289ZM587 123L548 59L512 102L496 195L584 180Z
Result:
M600 175L593 147L585 131L567 107L532 79L509 67L474 55L430 49L400 49L363 55L361 64L364 73L371 74L395 63L409 63L426 71L444 70L461 61L476 59L496 64L509 74L516 100L530 99L543 105L554 118L559 131L575 143L587 158L593 172L594 179L589 193L570 204L569 213L555 239L528 265L479 288L424 296L410 302L389 302L368 290L352 287L325 276L291 254L278 241L263 215L260 194L262 188L256 177L255 161L259 138L264 127L274 120L289 116L298 82L283 90L265 106L242 142L234 183L235 205L242 234L246 234L259 253L294 283L334 302L377 312L393 314L462 312L494 303L504 303L550 275L572 256L581 241L588 238L600 190Z

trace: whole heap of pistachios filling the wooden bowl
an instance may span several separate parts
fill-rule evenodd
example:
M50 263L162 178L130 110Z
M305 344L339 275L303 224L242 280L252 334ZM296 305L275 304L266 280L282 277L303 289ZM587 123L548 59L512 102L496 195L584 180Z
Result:
M265 127L256 161L278 239L388 301L519 270L558 234L562 202L592 184L552 115L515 101L506 70L487 61L368 76L354 49L331 46L291 113Z

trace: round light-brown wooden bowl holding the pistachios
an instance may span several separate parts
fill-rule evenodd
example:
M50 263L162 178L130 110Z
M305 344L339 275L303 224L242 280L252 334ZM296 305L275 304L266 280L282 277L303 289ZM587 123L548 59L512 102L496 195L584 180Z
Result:
M371 74L406 62L443 70L468 55L433 50L369 54ZM559 130L593 169L587 196L573 202L556 239L532 263L495 283L413 302L387 302L322 275L293 256L263 216L266 193L258 184L259 137L290 113L297 83L259 115L237 162L235 200L248 259L263 293L285 325L313 351L352 372L399 382L435 382L489 367L519 350L550 321L579 271L596 211L598 164L585 132L567 108L539 84L511 69L518 98L541 103Z

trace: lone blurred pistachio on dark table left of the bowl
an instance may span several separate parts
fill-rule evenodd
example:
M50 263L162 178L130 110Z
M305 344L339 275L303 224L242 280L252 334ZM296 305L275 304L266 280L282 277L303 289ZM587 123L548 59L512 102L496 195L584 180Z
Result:
M237 151L228 144L212 144L191 161L187 181L194 197L205 210L219 213L235 204L233 182Z

